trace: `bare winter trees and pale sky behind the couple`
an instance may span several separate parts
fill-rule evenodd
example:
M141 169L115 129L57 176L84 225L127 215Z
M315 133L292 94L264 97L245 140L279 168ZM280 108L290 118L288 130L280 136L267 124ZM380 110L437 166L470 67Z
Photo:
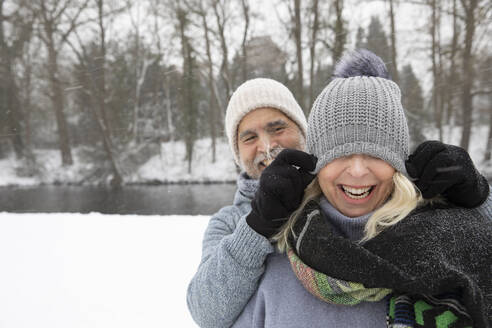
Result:
M0 166L43 181L49 154L70 173L56 183L112 186L139 182L155 158L192 174L193 163L223 160L225 109L242 82L276 79L308 115L333 64L366 48L401 87L412 146L452 134L470 150L475 134L475 163L492 167L491 9L487 0L0 0Z

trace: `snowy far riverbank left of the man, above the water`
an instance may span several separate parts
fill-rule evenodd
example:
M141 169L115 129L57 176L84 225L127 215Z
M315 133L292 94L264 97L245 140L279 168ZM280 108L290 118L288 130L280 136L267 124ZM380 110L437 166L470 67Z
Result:
M183 141L162 144L162 157L155 155L141 166L135 174L125 177L126 182L235 182L236 166L229 144L225 139L217 139L216 161L212 163L211 140L197 140L194 146L191 173L185 161ZM39 184L71 183L77 184L84 178L80 172L87 171L93 164L83 163L77 149L73 152L74 165L63 167L60 152L54 149L36 150L35 155L41 175L37 177L20 177L16 169L21 163L12 154L0 160L0 186L32 186Z

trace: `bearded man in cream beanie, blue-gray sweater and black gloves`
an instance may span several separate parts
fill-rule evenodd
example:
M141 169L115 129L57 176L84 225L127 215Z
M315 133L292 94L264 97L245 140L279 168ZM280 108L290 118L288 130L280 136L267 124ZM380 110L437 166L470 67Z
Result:
M270 239L283 221L262 219L268 215L257 215L256 208L258 202L268 202L262 192L268 188L268 179L278 177L259 179L265 167L281 149L294 149L282 152L273 164L282 172L283 188L292 190L291 197L283 200L287 217L300 204L302 191L312 180L308 172L315 162L311 155L301 152L305 149L306 118L292 93L274 80L253 79L242 84L230 99L225 128L234 159L243 172L233 205L222 208L210 219L202 259L188 287L188 307L200 327L230 327L235 322L257 289L267 256L274 252ZM488 185L484 187L484 178L465 151L457 147L449 151L449 147L453 146L422 144L410 157L408 171L420 178L417 185L425 190L425 197L441 193L457 204L461 201L459 205L478 206L488 195ZM436 171L442 163L452 168L463 164L463 172ZM462 177L468 179L458 180ZM451 186L458 182L463 185L456 191ZM491 202L489 199L487 204Z

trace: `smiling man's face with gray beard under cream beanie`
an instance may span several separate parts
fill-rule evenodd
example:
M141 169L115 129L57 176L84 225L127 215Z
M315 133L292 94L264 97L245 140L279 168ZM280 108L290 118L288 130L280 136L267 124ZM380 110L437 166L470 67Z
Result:
M304 150L305 139L297 124L274 108L258 108L243 117L237 129L241 166L253 179L284 148Z

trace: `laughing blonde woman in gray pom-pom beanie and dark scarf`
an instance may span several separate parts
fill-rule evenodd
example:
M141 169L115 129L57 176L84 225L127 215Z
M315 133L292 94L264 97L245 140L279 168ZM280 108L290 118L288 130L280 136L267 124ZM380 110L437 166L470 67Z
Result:
M400 90L379 57L342 61L308 125L316 178L276 237L289 261L268 260L235 327L489 327L490 220L423 204L406 177Z

